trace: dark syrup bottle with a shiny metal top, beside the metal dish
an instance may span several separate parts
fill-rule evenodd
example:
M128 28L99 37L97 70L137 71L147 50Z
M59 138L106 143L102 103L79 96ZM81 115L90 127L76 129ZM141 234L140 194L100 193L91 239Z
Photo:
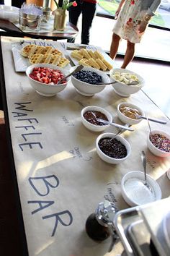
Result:
M91 239L96 241L104 241L112 235L112 244L109 247L109 252L112 250L118 236L113 226L113 219L117 208L112 202L104 200L100 202L95 213L86 220L86 233Z

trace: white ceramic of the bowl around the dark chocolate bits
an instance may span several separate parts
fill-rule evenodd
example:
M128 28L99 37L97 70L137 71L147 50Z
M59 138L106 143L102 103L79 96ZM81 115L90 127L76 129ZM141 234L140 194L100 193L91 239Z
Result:
M109 138L115 138L116 137L117 140L119 140L123 145L125 145L125 148L127 150L127 155L125 156L125 158L111 158L111 157L109 157L108 155L106 155L102 152L102 150L99 148L99 140L101 140L102 138L107 138L107 137L109 137ZM128 156L131 153L131 147L130 147L130 144L127 140L125 140L123 137L121 137L119 135L115 136L114 133L109 133L109 132L103 133L102 135L99 135L97 137L96 148L97 148L97 154L99 155L99 157L103 161L105 161L107 163L112 163L112 164L122 163L123 161L125 161L128 158Z

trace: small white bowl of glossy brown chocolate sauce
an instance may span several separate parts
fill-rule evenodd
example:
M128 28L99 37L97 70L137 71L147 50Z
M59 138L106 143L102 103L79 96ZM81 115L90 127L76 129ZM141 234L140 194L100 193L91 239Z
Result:
M81 121L87 129L93 132L102 132L109 127L97 119L103 119L112 123L112 115L104 108L99 106L86 106L81 110Z

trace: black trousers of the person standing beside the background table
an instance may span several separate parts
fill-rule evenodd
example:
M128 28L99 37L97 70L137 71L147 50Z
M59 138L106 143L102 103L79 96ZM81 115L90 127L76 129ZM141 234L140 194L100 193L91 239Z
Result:
M72 0L70 0L72 1ZM81 43L89 44L90 28L97 9L97 0L76 0L76 7L69 7L69 22L77 26L79 16L82 14ZM74 43L75 39L68 39Z

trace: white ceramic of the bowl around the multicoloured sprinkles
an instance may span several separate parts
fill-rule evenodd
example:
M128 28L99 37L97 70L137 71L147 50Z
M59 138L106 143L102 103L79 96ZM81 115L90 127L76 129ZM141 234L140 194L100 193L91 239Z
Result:
M156 145L153 145L153 142L151 142L151 136L154 136L154 135L155 136L156 135L165 136L167 138L167 140L166 140L167 144L164 143L164 145L162 145L162 147L165 147L165 145L169 145L169 148L170 148L170 135L167 134L166 132L163 132L160 130L153 130L151 132L148 132L148 137L147 137L147 145L148 145L148 149L151 151L151 153L153 153L153 155L160 156L162 158L170 156L170 151L166 152L164 150L161 150L161 148L157 148Z

